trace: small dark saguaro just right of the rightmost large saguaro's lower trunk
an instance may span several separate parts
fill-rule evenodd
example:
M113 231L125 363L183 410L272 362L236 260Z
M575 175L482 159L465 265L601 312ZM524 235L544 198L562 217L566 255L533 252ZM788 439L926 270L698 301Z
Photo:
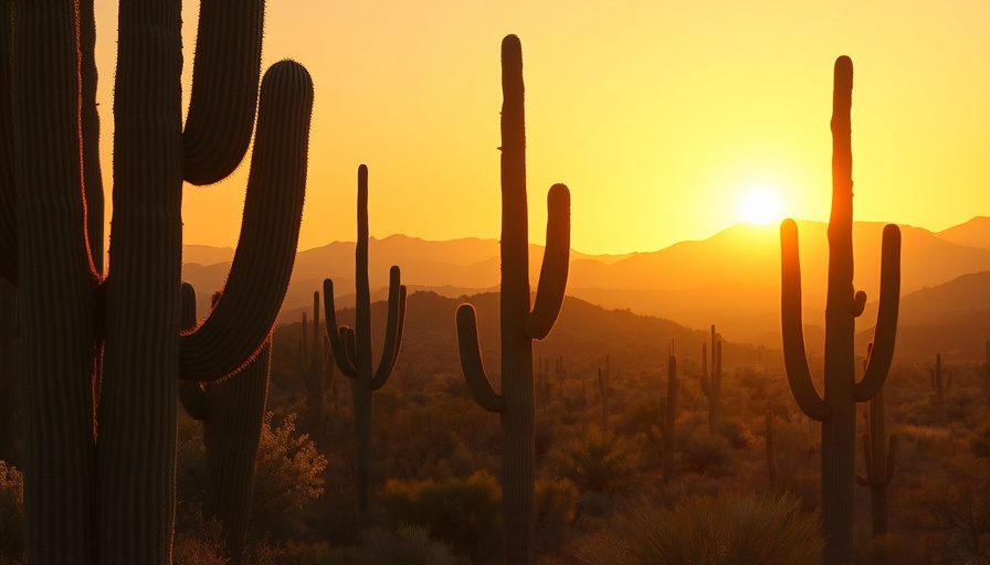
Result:
M870 401L870 429L863 434L863 460L865 475L856 476L856 482L870 487L873 510L873 536L887 533L887 487L894 478L897 461L897 435L891 434L887 449L887 430L884 424L884 390Z

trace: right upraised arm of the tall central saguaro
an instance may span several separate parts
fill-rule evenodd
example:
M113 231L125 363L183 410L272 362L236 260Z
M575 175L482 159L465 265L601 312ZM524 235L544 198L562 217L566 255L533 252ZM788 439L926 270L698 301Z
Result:
M526 334L541 340L550 333L567 288L570 263L570 192L555 184L547 193L547 247L539 271L536 303L526 321Z

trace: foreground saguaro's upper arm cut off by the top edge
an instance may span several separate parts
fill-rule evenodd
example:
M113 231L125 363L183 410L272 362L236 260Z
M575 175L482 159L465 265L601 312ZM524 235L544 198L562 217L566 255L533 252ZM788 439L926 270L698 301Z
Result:
M189 113L182 131L185 178L211 184L241 163L257 104L262 0L200 2Z

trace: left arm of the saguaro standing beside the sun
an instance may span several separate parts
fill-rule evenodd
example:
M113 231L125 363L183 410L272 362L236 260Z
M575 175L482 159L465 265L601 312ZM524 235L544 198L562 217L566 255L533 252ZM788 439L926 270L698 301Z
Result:
M819 396L811 382L808 355L804 352L804 327L801 315L801 263L798 256L798 225L793 220L780 224L781 281L780 312L783 333L783 362L787 380L798 406L815 420L824 420L832 408Z

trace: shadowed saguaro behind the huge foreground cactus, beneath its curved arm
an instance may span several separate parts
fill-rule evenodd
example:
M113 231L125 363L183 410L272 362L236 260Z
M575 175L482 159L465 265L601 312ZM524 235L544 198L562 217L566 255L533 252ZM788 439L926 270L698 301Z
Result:
M213 295L213 307L220 294ZM182 285L182 330L196 327L196 292ZM231 565L242 562L254 498L255 461L268 391L272 340L233 375L214 383L182 381L179 398L202 422L207 451L203 514L220 521ZM181 376L181 375L180 375Z

